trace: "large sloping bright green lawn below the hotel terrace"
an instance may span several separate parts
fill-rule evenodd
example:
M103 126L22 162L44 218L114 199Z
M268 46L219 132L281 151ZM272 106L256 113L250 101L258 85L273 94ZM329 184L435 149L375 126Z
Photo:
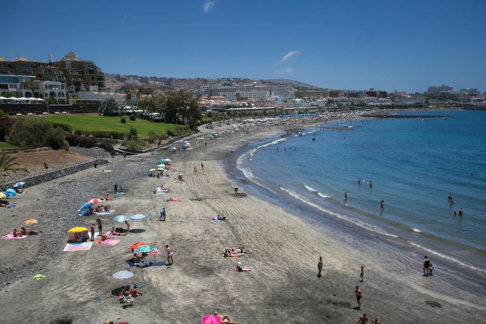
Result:
M128 133L130 128L136 128L139 136L147 137L150 131L157 134L166 132L168 129L175 128L177 124L166 124L162 122L152 122L148 120L138 119L130 120L128 116L123 116L126 123L120 122L120 117L106 117L97 114L89 115L52 115L42 117L23 117L23 118L42 118L43 120L51 120L53 122L70 125L74 130L85 131L116 131Z

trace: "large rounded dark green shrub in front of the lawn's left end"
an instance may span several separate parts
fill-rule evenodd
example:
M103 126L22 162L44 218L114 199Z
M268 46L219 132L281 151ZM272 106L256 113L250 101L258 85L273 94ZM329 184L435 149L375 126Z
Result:
M42 119L18 119L7 137L7 142L18 147L46 147L66 149L65 132Z

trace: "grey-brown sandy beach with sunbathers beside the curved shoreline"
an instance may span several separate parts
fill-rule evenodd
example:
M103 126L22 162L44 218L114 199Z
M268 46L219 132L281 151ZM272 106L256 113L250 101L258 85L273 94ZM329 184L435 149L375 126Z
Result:
M121 240L117 245L60 252L69 228L57 225L51 208L70 208L69 224L89 227L97 216L76 215L72 206L82 205L86 197L76 195L71 188L89 179L92 197L111 193L111 178L100 174L99 168L28 188L27 195L16 199L17 207L0 211L2 235L26 219L41 221L36 227L38 235L0 241L0 278L4 283L8 281L0 290L3 321L49 323L67 316L76 324L103 323L106 318L117 323L117 316L121 316L121 321L131 324L200 323L201 317L218 311L238 323L356 323L363 312L370 322L376 317L381 323L483 322L483 305L454 299L455 291L447 295L434 291L434 285L427 282L435 278L421 276L420 259L417 281L401 280L377 262L378 246L383 242L377 242L372 255L362 255L332 229L313 226L252 192L235 197L236 182L225 172L225 157L232 149L284 130L270 128L252 128L249 136L227 134L208 140L207 147L193 141L194 149L180 154L161 150L126 160L112 159L113 169L116 165L127 170L146 164L155 167L158 159L166 156L176 164L169 179L140 175L122 184L125 195L111 195L115 215L141 213L148 217L146 221L132 222L135 231L117 238ZM204 161L204 171L200 161ZM193 175L194 166L197 175ZM178 171L186 179L183 184L172 180ZM162 184L172 189L170 194L153 194L152 190ZM66 196L49 195L59 191L66 192ZM165 202L169 197L182 202ZM167 209L166 222L158 220L162 207ZM218 214L230 221L212 221L211 217ZM105 229L117 225L112 217L102 218ZM65 239L52 239L49 233L54 232L65 233ZM165 261L164 247L168 244L174 250L174 265L144 268L143 272L129 268L124 262L132 256L128 246L139 241L161 250L161 256L148 258L151 261ZM244 246L253 253L225 259L221 256L225 246ZM324 260L321 278L316 277L319 256ZM234 273L237 261L252 271ZM361 265L365 266L363 283L359 282ZM120 270L132 271L134 277L112 278ZM34 280L38 273L46 278ZM122 309L111 291L139 282L146 284L141 289L144 295L135 298L134 307ZM353 309L357 306L353 298L355 285L363 291L361 310ZM484 289L484 280L478 285L478 290Z

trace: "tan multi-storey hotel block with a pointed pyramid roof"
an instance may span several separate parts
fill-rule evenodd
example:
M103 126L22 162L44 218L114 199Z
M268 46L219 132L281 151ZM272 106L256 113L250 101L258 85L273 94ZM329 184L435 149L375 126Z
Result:
M105 90L104 73L93 61L85 61L72 51L62 59L49 63L63 71L71 92Z

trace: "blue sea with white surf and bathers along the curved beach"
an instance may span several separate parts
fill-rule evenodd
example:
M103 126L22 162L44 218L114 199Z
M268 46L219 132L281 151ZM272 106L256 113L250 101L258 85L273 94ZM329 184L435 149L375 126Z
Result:
M486 112L421 113L438 114L451 117L363 119L339 124L352 130L308 129L302 137L256 144L238 168L313 206L317 215L420 246L435 241L433 250L443 255L453 250L460 258L464 250L484 256ZM459 208L462 217L452 213Z

